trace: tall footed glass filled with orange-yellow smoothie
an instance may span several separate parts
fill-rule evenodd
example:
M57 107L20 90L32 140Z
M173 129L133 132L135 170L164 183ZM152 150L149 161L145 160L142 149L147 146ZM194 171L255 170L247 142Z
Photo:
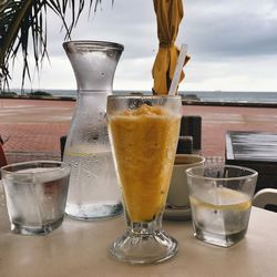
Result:
M181 121L179 96L109 96L107 126L127 229L112 255L157 263L177 252L162 228Z

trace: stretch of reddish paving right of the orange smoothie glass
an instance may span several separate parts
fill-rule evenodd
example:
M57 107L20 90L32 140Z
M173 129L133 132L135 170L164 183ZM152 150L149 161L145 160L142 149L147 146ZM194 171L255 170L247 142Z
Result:
M226 131L277 132L277 110L246 106L183 106L183 114L202 116L205 156L225 155Z

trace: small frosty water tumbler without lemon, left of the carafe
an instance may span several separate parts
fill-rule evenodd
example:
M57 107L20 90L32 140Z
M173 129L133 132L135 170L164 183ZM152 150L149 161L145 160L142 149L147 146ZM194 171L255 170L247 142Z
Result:
M70 165L24 162L3 166L1 173L12 233L47 235L62 224Z

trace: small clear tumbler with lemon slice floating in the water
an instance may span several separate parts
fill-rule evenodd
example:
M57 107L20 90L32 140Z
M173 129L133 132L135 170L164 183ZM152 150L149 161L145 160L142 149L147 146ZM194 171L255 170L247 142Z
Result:
M257 182L257 172L233 165L186 170L194 236L229 247L244 238Z

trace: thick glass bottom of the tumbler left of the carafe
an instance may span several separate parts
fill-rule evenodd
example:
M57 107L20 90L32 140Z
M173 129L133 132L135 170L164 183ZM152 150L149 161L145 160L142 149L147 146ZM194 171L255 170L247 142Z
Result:
M23 226L22 224L11 223L11 232L19 235L40 235L44 236L52 233L54 229L61 226L63 217L55 222L44 224L42 226Z

